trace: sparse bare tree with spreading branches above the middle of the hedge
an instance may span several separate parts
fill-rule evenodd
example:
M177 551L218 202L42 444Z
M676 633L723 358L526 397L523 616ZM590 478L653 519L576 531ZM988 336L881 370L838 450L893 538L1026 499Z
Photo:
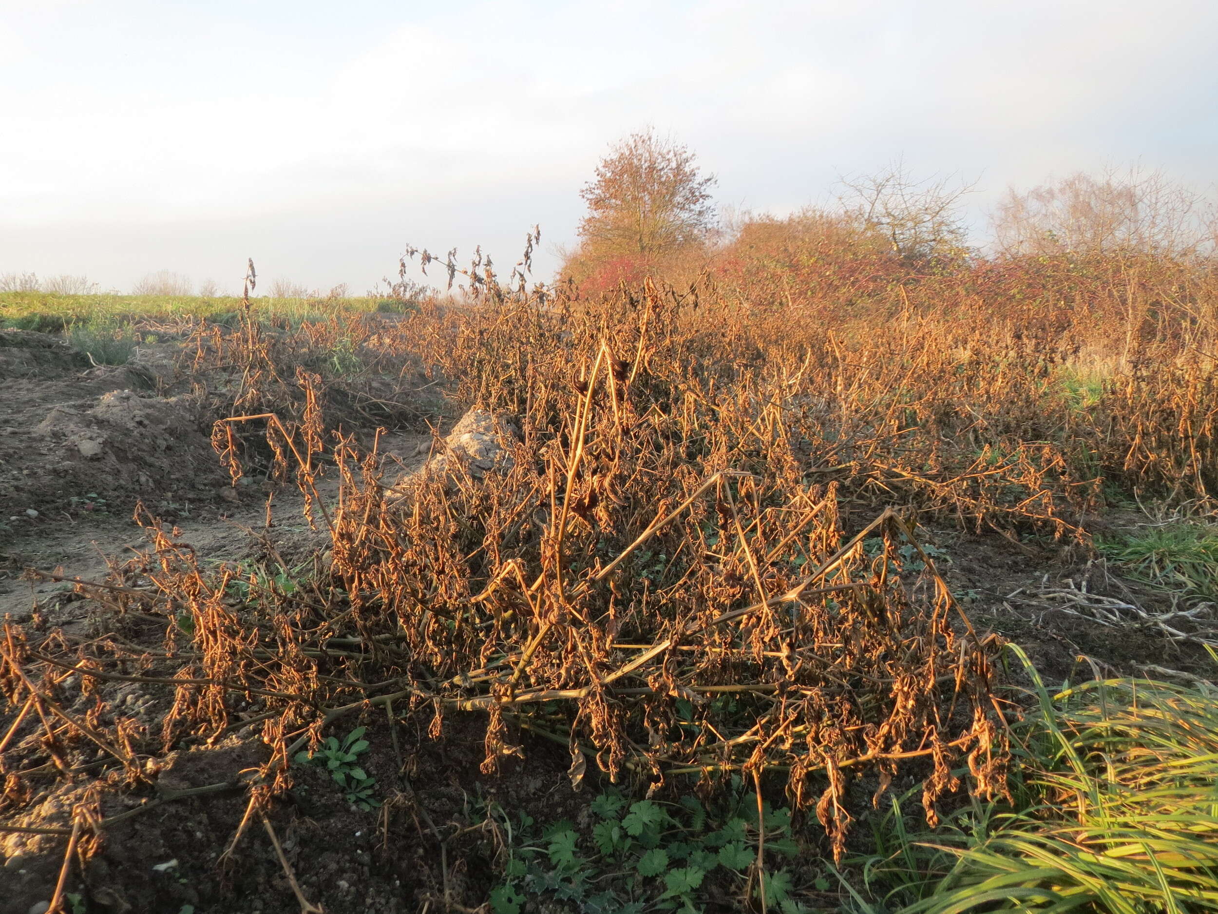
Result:
M962 200L974 185L956 175L914 178L900 160L876 172L842 178L843 208L866 230L883 233L909 261L954 256L965 250Z

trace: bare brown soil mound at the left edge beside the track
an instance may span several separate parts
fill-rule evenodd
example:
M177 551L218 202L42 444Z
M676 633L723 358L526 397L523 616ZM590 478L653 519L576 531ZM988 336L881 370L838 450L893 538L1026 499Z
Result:
M222 503L201 403L167 368L156 347L96 367L57 336L0 331L0 551L138 500L171 519Z

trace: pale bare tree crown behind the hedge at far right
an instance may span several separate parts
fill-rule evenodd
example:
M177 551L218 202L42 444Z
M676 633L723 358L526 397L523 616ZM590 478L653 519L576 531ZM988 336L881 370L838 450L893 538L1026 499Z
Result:
M1189 256L1214 241L1213 211L1200 195L1138 167L1011 189L993 218L995 243L1009 255Z

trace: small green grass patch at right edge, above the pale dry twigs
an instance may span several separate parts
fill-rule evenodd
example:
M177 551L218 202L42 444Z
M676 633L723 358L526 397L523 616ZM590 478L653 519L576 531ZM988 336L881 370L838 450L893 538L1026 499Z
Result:
M1096 547L1134 580L1181 592L1186 598L1218 600L1218 528L1199 523L1155 526Z

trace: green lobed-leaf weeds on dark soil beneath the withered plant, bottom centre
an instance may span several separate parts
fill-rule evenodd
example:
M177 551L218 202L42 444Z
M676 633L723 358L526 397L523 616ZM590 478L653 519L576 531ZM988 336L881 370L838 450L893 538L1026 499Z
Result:
M708 880L743 891L758 860L756 795L737 784L734 796L716 815L695 797L632 803L610 791L592 801L591 826L559 821L540 834L527 815L512 821L491 807L510 838L504 881L491 892L491 910L521 914L532 899L546 910L700 914ZM800 914L805 908L795 898L790 874L773 868L799 852L790 837L790 812L766 803L762 814L767 908Z

